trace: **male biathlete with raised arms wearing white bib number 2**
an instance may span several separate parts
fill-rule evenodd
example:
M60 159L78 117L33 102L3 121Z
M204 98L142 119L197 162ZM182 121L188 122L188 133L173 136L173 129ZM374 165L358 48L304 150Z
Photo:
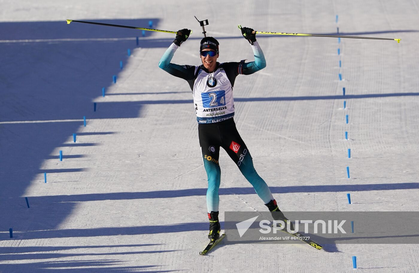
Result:
M234 100L233 86L235 78L250 75L266 67L264 54L256 41L252 28L241 28L243 36L251 44L254 62L217 62L219 43L213 37L201 40L200 56L202 65L178 65L170 61L181 44L188 39L189 29L179 30L173 44L169 46L160 59L159 67L173 76L186 80L194 97L195 112L198 121L199 145L201 146L204 167L208 176L207 209L209 218L210 240L220 237L220 222L218 221L218 206L220 198L221 170L218 163L220 147L238 166L244 177L251 183L258 196L268 207L275 220L285 220L284 214L278 209L268 185L256 173L253 160L246 144L238 133L233 116Z

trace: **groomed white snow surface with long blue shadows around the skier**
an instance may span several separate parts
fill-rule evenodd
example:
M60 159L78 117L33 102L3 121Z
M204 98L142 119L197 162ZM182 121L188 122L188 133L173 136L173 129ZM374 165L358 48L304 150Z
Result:
M200 64L202 30L193 15L209 20L221 62L253 60L238 24L401 38L338 44L258 35L267 67L237 78L235 121L283 211L417 211L418 6L417 0L1 0L0 272L353 272L352 256L362 272L419 272L413 244L336 244L327 251L220 244L198 255L208 228L207 178L192 96L184 80L158 68L174 36L65 21L191 28L177 64ZM220 218L224 211L266 211L225 152L220 165Z

